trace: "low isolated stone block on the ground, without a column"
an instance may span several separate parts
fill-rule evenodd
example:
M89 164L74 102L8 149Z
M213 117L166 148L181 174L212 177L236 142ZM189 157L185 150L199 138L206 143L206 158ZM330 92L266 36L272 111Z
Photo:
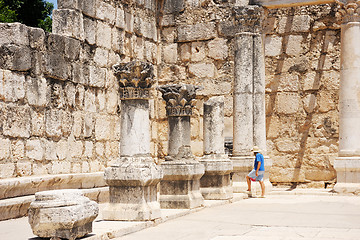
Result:
M35 235L75 240L92 232L99 207L83 196L81 190L53 190L37 192L28 213Z

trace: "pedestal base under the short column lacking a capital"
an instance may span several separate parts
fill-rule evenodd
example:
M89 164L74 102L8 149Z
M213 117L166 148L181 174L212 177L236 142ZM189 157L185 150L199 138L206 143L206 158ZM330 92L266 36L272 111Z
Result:
M227 200L233 198L230 173L233 171L227 156L206 155L201 160L205 174L200 179L200 191L207 200Z

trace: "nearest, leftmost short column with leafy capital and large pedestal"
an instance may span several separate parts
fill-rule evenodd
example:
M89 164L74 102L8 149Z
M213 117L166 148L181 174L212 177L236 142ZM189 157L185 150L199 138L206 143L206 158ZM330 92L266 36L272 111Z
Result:
M153 66L130 62L113 67L120 84L120 158L105 170L110 203L105 220L144 221L159 218L157 184L163 173L150 156L149 101Z

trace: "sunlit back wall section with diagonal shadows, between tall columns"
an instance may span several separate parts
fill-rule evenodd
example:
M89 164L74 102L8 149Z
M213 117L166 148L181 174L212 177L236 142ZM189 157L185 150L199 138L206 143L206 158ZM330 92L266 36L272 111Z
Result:
M266 130L273 183L324 187L336 178L339 27L333 5L268 14Z

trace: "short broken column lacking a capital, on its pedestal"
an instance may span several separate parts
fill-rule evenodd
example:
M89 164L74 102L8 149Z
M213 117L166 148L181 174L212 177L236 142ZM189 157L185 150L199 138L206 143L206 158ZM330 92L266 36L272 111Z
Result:
M204 157L200 163L205 166L200 179L204 199L233 198L230 182L233 166L224 149L224 97L213 97L204 103Z

